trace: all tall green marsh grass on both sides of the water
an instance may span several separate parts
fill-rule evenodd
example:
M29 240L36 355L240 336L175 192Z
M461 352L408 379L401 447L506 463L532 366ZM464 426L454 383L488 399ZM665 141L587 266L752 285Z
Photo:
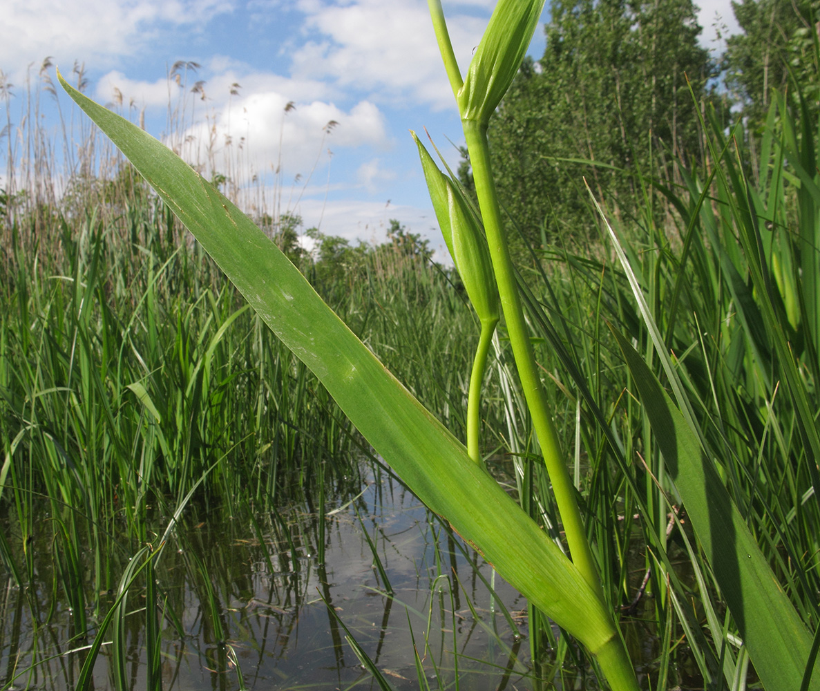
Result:
M775 99L754 161L742 124L729 138L714 120L703 127L707 169L678 162L683 184L674 188L652 172L638 176L641 217L615 224L604 208L613 230L600 222L593 252L535 248L518 277L604 598L647 689L742 689L758 677L740 636L736 593L693 530L664 458L666 440L613 331L672 392L704 464L814 634L814 655L820 630L817 123L807 121L799 95ZM117 191L103 207L66 213L41 199L8 214L4 234L0 507L13 513L19 534L3 537L0 552L17 583L34 583L42 557L26 546L43 524L32 497L48 497L49 568L70 600L68 636L78 648L93 631L85 613L97 621L107 611L98 593L116 590L125 556L156 543L157 515L185 501L192 521L215 506L269 510L268 529L285 546L281 570L295 574L298 546L276 507L316 478L328 492L353 492L351 466L335 459L365 448L305 365L122 170L109 178ZM658 226L651 206L662 202L669 222ZM54 242L43 248L45 232ZM458 278L399 246L372 253L358 270L362 280L327 283L322 295L463 438L477 327ZM508 489L526 512L563 544L502 336L484 391L481 449L503 482L499 469L512 475ZM121 551L112 535L124 517L130 543ZM253 525L252 533L263 532ZM219 570L202 556L187 563L198 579ZM93 586L82 588L87 572ZM208 588L203 581L199 597L212 603L207 625L218 642L225 605ZM40 611L34 600L30 607ZM538 677L599 684L594 660L572 638L533 606L529 621ZM215 646L214 655L226 668L227 649ZM803 689L818 683L814 665L809 657Z

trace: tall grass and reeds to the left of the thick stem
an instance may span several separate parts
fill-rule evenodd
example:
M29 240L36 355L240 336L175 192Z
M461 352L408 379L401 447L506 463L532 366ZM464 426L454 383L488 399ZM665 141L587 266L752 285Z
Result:
M41 89L28 98L31 116L50 93L44 69ZM284 562L266 556L271 572L296 572L304 550L280 517L294 502L323 513L326 502L358 493L358 460L369 449L130 168L108 151L78 172L55 153L62 132L52 140L42 118L24 122L29 129L8 132L9 141L24 142L26 152L31 142L41 146L10 149L0 217L0 515L10 528L0 558L11 583L28 593L29 614L18 624L49 620L65 606L71 625L56 649L35 627L30 648L18 648L25 654L7 658L5 682L29 665L15 684L55 674L66 686L84 683L93 672L82 665L89 645L112 637L117 647L100 654L112 661L115 688L134 683L126 650L137 640L149 648L149 685L159 688L157 621L185 636L184 602L166 591L182 566L167 550L156 556L168 527L241 519L253 529L232 539L264 545L277 533L289 548L276 556ZM73 136L84 139L68 140L66 151L99 151L93 130ZM471 333L462 296L446 272L402 245L360 259L355 276L320 286L326 300L462 427L467 356L458 345ZM268 524L265 515L277 519ZM319 527L313 554L329 539L324 522ZM206 580L220 565L204 546L171 535L190 555L184 568L201 586L198 597L212 603L208 625L224 633L225 603ZM137 616L132 578L139 588L159 583L144 591L155 607ZM103 631L117 594L112 628ZM282 597L295 603L312 593ZM214 665L226 669L228 652L216 652Z

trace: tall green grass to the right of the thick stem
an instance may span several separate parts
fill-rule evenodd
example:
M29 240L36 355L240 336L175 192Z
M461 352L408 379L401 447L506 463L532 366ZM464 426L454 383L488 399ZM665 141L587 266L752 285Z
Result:
M734 593L718 587L690 531L611 329L630 336L658 378L671 380L773 574L809 630L818 631L818 333L810 317L816 287L806 280L820 246L816 168L809 168L818 139L805 115L799 97L777 99L754 162L742 125L727 140L714 118L704 122L708 172L679 163L685 185L676 189L639 181L664 195L674 223L658 227L647 207L643 217L615 226L625 264L608 252L601 259L553 249L543 257L550 270L538 257L526 272L527 283L549 286L545 298L522 284L546 345L539 360L556 373L554 392L565 394L554 405L576 420L563 436L576 449L576 467L584 460L576 477L605 592L616 607L643 593L639 606L661 662L654 688L681 683L673 671L676 640L686 640L699 675L716 688L736 688L754 673L726 609ZM744 172L753 167L757 179ZM601 246L611 241L604 234ZM649 323L627 272L640 284ZM529 468L518 467L523 484ZM549 506L541 519L554 524ZM630 558L635 550L642 565ZM817 683L815 662L805 663L803 688Z

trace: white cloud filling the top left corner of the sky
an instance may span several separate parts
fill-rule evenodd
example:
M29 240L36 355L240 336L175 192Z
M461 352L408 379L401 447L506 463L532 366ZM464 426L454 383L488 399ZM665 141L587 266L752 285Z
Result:
M235 0L6 0L0 66L14 70L46 56L71 65L142 52L161 32L196 30L233 10ZM110 64L110 62L108 63Z

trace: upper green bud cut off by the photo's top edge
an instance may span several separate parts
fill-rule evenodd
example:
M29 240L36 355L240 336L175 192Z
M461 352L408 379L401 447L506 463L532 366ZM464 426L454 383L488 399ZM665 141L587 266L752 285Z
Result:
M499 0L456 94L462 120L490 121L521 66L543 8L544 0Z

